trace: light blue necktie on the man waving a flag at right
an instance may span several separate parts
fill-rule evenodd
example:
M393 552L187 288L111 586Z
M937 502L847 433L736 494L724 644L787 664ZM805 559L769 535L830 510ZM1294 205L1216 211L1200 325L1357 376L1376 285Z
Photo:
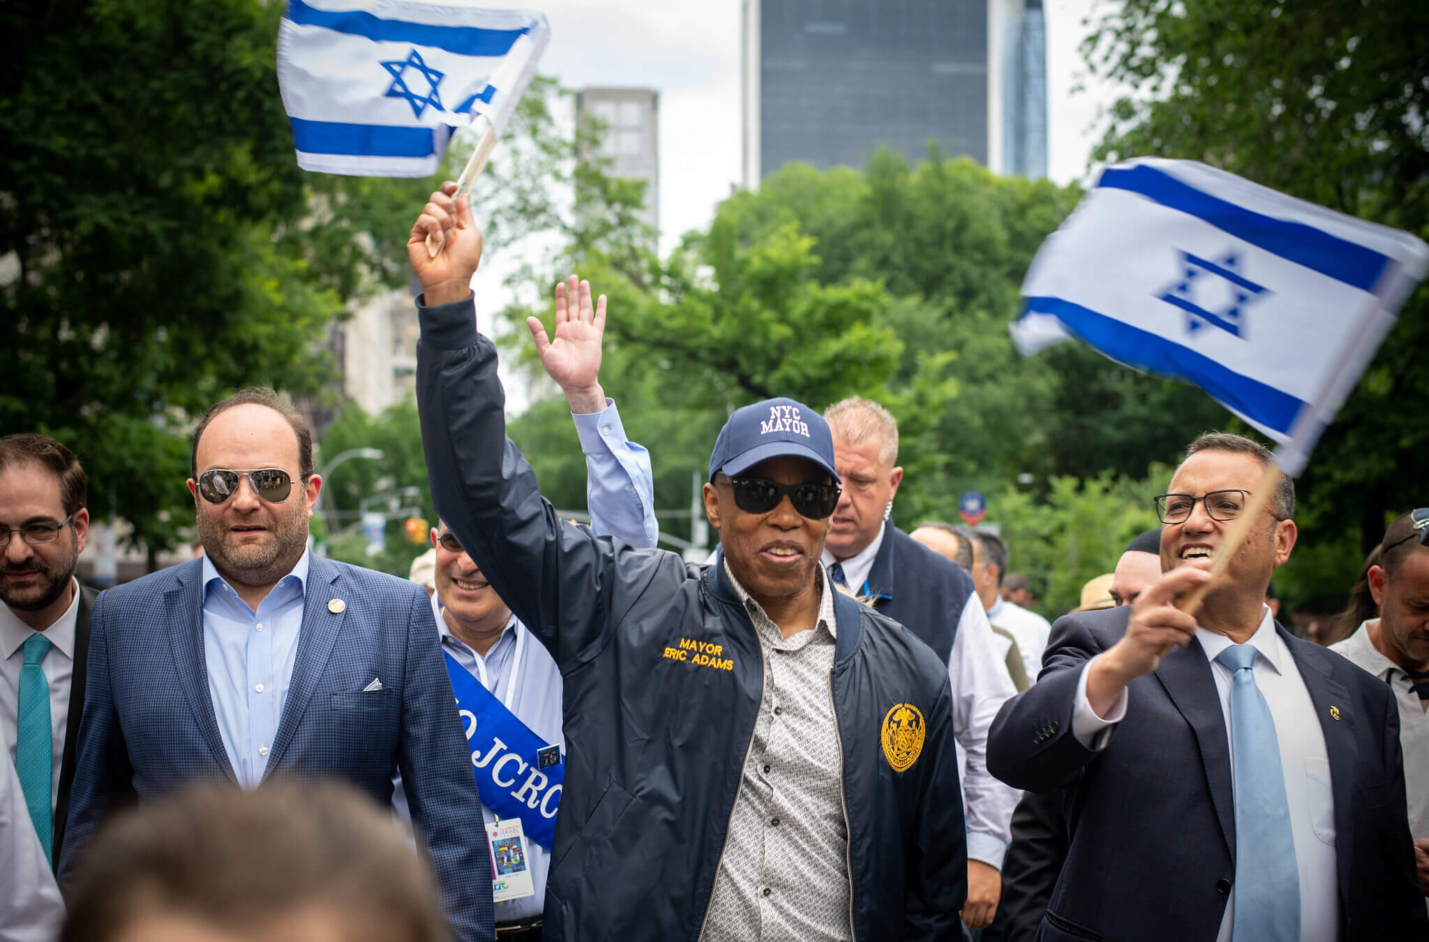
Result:
M1230 668L1230 752L1236 779L1235 942L1300 938L1300 872L1280 772L1280 743L1255 682L1256 648L1232 645L1216 658Z

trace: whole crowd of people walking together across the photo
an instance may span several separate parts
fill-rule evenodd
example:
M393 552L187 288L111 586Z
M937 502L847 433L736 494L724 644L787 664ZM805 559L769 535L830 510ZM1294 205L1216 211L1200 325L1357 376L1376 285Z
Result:
M993 530L893 525L892 413L770 399L687 563L574 276L530 327L590 525L540 496L453 193L409 243L413 580L310 552L272 390L193 432L201 555L99 595L80 462L0 439L0 939L1429 938L1429 509L1326 649L1268 598L1293 485L1248 510L1270 455L1202 435L1053 626Z

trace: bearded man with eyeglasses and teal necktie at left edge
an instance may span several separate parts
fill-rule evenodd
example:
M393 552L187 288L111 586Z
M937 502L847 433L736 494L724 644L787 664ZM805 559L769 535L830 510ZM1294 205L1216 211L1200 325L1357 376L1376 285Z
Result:
M53 929L57 911L51 869L74 780L96 595L74 577L89 537L86 490L84 469L64 445L33 433L0 437L0 763L14 763L17 786L0 808L13 848L0 862L14 873L0 925L21 936ZM23 816L7 813L14 808ZM39 866L30 866L33 851L43 851Z

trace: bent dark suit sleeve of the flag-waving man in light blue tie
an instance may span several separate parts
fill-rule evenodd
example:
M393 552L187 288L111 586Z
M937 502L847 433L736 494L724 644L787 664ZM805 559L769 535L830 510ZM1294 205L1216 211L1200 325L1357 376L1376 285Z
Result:
M1100 642L1076 615L1057 619L1037 682L1003 703L992 722L989 772L1013 788L1043 792L1097 756L1072 735L1072 708L1082 669L1099 653Z

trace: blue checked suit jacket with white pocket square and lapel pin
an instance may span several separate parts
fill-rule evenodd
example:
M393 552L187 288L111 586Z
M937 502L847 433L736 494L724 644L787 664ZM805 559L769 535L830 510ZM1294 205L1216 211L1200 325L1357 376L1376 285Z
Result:
M201 560L100 593L90 622L60 883L106 812L187 782L234 782L209 695ZM329 610L342 599L342 612ZM492 939L480 796L420 586L312 556L303 628L264 780L343 779L382 805L402 769L457 938ZM363 692L377 678L382 690Z

